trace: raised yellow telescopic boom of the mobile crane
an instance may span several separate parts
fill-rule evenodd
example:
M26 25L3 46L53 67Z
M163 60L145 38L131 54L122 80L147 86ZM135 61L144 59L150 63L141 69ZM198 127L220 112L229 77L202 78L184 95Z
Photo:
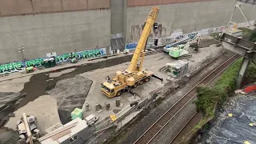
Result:
M151 28L154 25L154 21L157 18L158 11L158 6L152 7L150 14L147 17L146 24L144 26L144 29L142 30L141 38L139 38L138 45L136 46L136 49L134 51L134 56L130 62L130 66L128 67L128 71L130 72L140 71L142 69L143 58L145 55L144 49L146 47L146 40L150 35ZM142 59L138 66L138 62L141 57Z

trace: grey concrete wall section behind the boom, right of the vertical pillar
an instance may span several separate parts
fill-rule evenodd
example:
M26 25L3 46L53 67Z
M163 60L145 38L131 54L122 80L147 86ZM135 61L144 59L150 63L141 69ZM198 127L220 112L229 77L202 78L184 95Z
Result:
M153 32L150 38L170 36L175 30L182 30L183 34L188 34L210 27L226 26L234 6L234 0L185 2L158 6L160 7L157 19L158 30L156 30L155 33ZM142 25L146 21L151 7L152 6L128 7L126 43L138 42L138 38L142 33ZM249 8L248 6L242 6L242 10L250 20L256 19L255 7ZM246 22L246 20L242 17L242 14L236 10L233 22Z

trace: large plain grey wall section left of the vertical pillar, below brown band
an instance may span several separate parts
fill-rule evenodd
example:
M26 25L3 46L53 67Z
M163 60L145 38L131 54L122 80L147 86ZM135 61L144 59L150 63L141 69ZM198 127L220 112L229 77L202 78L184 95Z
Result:
M110 46L110 10L0 18L0 63Z

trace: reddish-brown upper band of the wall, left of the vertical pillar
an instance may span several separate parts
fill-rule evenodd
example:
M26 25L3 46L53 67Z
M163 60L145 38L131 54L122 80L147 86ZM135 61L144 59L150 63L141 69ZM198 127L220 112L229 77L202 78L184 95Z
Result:
M0 17L109 8L110 0L1 0Z

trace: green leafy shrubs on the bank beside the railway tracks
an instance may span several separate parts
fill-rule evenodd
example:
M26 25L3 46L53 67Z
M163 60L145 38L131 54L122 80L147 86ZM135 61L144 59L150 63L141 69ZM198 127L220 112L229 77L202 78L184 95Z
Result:
M198 87L198 100L195 101L197 109L205 117L214 117L216 105L222 105L228 98L229 92L235 89L235 79L242 63L242 58L234 62L218 79L213 87Z

